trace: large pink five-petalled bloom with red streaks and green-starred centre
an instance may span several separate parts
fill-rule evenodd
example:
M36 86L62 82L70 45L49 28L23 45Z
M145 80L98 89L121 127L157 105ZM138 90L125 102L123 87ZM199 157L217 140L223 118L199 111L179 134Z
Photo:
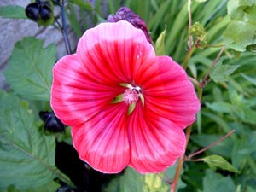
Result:
M183 129L200 108L193 84L129 22L86 31L53 75L51 106L94 169L162 172L184 154Z

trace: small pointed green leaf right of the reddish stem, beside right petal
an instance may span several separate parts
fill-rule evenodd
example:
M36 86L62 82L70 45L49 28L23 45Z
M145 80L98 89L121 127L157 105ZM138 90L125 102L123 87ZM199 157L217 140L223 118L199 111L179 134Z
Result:
M224 82L229 80L230 74L234 73L236 69L240 67L239 65L222 65L219 61L215 67L212 68L210 77L216 83Z

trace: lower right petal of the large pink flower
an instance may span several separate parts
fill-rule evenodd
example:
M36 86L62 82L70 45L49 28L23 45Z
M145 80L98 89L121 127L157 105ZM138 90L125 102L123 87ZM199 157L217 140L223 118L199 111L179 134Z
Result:
M183 130L172 121L143 110L141 103L131 113L128 124L131 163L137 172L163 172L185 151Z

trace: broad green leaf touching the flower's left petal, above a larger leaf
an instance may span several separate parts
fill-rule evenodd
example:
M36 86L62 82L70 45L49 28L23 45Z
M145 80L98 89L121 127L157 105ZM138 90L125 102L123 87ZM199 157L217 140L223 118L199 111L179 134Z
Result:
M17 42L4 72L11 88L29 100L49 101L56 48L43 44L36 38Z

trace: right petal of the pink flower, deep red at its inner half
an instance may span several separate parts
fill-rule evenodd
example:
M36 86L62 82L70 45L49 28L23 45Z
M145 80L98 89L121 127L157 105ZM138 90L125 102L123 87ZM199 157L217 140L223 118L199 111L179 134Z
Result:
M183 68L171 57L145 61L135 79L143 89L146 110L154 111L181 128L195 121L200 102Z

